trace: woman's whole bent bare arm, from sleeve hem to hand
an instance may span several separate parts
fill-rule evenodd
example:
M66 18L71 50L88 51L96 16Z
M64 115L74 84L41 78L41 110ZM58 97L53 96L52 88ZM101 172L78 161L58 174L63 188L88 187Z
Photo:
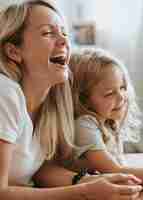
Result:
M36 189L8 185L8 172L11 165L14 145L0 141L0 199L2 200L121 200L126 197L129 200L137 199L142 187L117 185L114 183L132 179L129 176L112 175L112 177L101 177L88 183L74 186ZM52 177L51 177L52 178Z

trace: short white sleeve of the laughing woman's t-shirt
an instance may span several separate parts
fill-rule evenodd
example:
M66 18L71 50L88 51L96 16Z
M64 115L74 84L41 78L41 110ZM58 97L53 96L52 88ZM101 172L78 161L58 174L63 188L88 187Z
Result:
M20 88L2 88L0 91L0 139L16 143L22 125Z

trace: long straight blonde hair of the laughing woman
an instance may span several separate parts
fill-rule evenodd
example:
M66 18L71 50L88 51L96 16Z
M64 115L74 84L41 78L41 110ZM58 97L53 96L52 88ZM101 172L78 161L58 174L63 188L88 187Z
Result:
M55 4L47 0L31 0L11 4L0 12L0 73L21 84L22 66L10 60L4 51L9 42L15 46L23 42L23 31L28 24L31 7L47 6L59 12ZM46 151L47 159L55 156L67 157L72 151L74 140L73 107L69 82L51 88L45 102L39 110L35 133L41 147Z

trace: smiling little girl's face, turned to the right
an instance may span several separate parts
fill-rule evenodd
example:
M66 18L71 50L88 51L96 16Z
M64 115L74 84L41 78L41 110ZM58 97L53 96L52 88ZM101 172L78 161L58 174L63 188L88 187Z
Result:
M101 72L101 79L90 92L89 103L103 119L122 121L127 111L127 90L124 76L116 66Z

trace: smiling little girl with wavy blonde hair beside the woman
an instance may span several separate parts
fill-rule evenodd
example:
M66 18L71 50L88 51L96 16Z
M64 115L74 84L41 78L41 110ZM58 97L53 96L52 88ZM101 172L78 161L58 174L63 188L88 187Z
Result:
M73 54L76 167L134 173L124 166L123 139L139 138L140 112L125 67L103 50ZM137 131L138 130L138 131Z

